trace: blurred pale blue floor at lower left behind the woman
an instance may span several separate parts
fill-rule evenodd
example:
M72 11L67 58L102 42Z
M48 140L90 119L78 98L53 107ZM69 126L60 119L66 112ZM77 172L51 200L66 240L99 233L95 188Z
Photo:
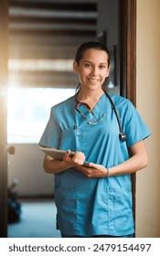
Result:
M59 238L56 229L56 206L53 199L19 199L22 214L8 224L8 238Z

